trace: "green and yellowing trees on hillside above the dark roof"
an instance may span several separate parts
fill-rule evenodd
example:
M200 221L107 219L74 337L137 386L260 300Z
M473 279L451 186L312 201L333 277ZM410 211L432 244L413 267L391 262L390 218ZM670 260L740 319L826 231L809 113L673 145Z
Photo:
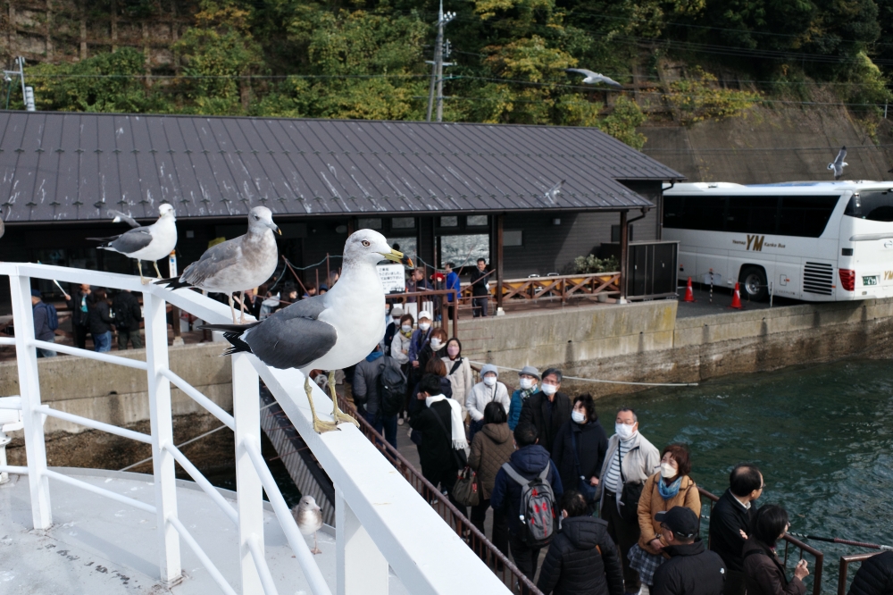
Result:
M137 0L151 18L154 3ZM447 0L444 120L597 126L633 147L651 119L690 124L763 102L890 97L893 0ZM168 77L123 46L29 67L38 109L423 120L432 0L204 0ZM684 76L667 75L683 63ZM563 69L623 89L583 86ZM678 69L677 69L678 71ZM14 85L11 107L21 105ZM5 89L4 89L5 90ZM816 99L821 97L821 99Z

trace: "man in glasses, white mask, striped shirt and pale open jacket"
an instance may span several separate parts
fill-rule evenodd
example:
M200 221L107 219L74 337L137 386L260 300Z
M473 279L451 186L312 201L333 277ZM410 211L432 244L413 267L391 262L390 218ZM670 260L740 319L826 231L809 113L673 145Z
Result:
M638 592L638 572L630 568L629 551L639 538L638 497L623 499L624 486L633 495L646 480L660 469L661 456L651 442L638 432L638 417L623 407L614 419L614 435L608 440L605 463L596 486L601 516L608 522L611 539L620 548L623 562L623 583L627 593Z

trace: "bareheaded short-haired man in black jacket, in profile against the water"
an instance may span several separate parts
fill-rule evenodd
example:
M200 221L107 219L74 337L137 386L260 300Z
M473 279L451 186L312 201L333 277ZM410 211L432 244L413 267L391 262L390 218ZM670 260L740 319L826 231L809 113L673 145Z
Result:
M755 500L763 495L763 474L756 465L735 465L729 489L710 513L710 549L726 565L725 595L744 595L742 549L756 515Z

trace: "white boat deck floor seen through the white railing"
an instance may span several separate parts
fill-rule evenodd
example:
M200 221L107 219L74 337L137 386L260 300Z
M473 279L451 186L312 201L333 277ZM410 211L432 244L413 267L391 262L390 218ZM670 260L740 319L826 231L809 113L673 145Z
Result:
M154 501L153 477L96 469L55 468L79 480L147 504ZM151 593L208 595L221 592L198 558L181 544L184 579L165 587L158 582L158 532L155 515L50 480L54 524L32 531L28 478L10 475L0 485L0 593L55 595L72 593ZM235 505L236 494L220 490ZM240 590L238 530L220 507L193 482L177 482L179 518L237 592ZM322 554L316 557L332 592L335 588L334 530L319 532ZM269 505L264 506L265 557L283 595L311 591ZM307 538L313 547L313 536ZM113 560L115 560L113 562ZM390 595L405 590L389 573Z

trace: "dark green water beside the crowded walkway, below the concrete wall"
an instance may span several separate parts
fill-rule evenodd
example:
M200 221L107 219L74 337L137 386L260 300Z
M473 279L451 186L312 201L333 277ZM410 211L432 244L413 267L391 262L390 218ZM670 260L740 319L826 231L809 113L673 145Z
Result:
M732 466L759 465L767 487L758 504L785 507L791 532L893 545L889 361L847 360L747 374L698 387L601 398L597 406L609 433L614 411L631 406L640 432L657 448L688 444L692 477L716 495L728 487ZM872 551L807 543L825 554L823 593L837 592L840 556ZM791 557L796 562L796 550ZM812 568L812 557L807 559ZM812 577L807 585L812 592Z

